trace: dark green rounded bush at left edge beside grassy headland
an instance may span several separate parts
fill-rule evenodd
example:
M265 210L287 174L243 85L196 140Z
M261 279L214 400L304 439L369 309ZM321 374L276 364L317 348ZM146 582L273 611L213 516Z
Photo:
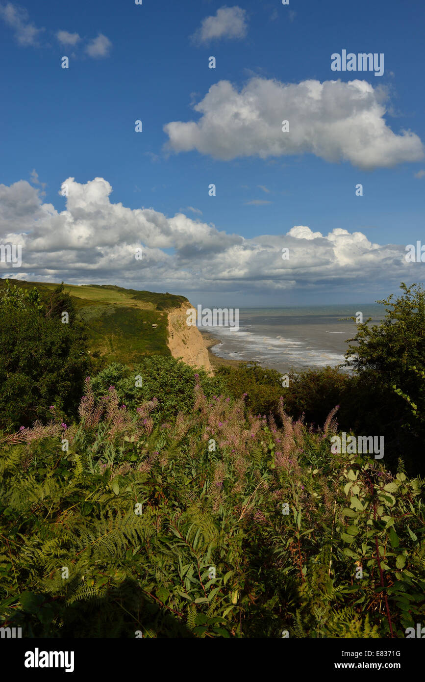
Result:
M62 312L69 314L68 324L62 324ZM84 331L63 286L45 308L35 288L7 282L0 293L0 427L46 419L50 405L72 414L88 369Z

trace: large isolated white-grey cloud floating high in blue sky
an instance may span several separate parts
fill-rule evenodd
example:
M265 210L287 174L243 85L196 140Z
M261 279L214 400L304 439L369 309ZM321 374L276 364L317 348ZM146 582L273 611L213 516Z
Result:
M174 151L197 149L222 160L312 153L372 170L422 159L418 135L395 134L385 123L384 102L382 89L364 80L285 84L256 77L241 91L221 80L193 107L198 122L173 121L163 130ZM283 120L289 132L282 132Z

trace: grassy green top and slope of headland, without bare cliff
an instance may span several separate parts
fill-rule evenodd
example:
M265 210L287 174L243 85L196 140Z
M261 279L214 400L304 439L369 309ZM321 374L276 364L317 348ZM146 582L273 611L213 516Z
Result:
M12 279L9 282L23 288L35 286L45 301L58 286ZM4 286L5 280L0 280L0 291ZM64 286L78 317L87 325L89 351L94 357L101 357L101 366L112 361L133 365L140 357L155 353L171 355L167 345L168 312L189 303L184 296L109 284Z

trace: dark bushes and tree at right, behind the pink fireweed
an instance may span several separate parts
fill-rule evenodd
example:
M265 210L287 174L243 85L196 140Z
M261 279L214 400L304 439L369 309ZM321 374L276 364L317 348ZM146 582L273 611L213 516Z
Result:
M283 386L279 372L251 364L221 367L217 376L229 395L238 398L246 392L255 414L272 413L276 419L281 397L289 415L304 415L315 426L339 405L342 431L384 436L385 464L396 471L401 457L409 474L423 476L425 423L418 415L425 408L425 294L417 285L402 283L400 288L403 294L396 300L378 301L387 306L383 324L358 325L347 351L347 366L354 374L330 367L289 372L289 383Z

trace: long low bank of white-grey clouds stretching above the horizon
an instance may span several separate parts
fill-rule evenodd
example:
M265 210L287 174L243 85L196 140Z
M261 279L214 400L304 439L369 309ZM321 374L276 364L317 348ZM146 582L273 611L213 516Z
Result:
M66 209L42 203L24 180L0 185L0 243L22 245L22 267L0 263L1 276L82 284L121 284L173 293L266 294L370 291L418 278L424 265L405 260L405 245L380 245L360 232L328 235L294 226L285 235L244 239L177 213L111 203L112 187L97 177L65 180ZM142 246L143 258L135 255ZM282 249L289 249L283 260ZM389 284L388 284L389 283Z

